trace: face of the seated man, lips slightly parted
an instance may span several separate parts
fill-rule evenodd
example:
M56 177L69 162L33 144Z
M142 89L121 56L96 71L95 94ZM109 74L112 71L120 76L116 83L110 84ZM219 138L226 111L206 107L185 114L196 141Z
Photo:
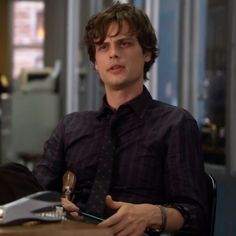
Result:
M119 34L118 24L111 23L107 37L101 44L95 41L95 68L106 91L140 88L143 84L144 63L150 61L151 53L144 53L136 35L129 33L124 21Z

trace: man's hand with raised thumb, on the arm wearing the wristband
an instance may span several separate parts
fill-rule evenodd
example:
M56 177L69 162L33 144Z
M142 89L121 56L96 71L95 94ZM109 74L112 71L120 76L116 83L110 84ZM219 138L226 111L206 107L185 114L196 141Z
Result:
M147 215L152 205L117 202L111 196L106 197L106 205L117 212L98 226L112 227L116 236L143 235L149 223Z

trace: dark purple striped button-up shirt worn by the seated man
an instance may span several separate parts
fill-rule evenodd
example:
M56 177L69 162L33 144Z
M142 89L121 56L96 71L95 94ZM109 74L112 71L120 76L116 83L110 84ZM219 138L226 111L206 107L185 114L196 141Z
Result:
M143 93L112 111L66 115L45 144L33 173L49 190L61 191L66 170L77 176L75 201L86 205L104 142L104 127L117 116L110 194L131 203L168 204L185 217L183 230L204 235L205 185L199 131L185 110Z

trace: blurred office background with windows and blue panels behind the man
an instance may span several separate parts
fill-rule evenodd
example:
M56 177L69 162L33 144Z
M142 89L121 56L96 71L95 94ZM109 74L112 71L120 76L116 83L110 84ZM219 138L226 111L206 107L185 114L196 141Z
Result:
M236 1L130 2L147 12L159 38L146 86L197 119L218 185L215 235L236 235ZM83 31L111 3L0 0L0 164L32 168L65 114L99 107L103 88Z

